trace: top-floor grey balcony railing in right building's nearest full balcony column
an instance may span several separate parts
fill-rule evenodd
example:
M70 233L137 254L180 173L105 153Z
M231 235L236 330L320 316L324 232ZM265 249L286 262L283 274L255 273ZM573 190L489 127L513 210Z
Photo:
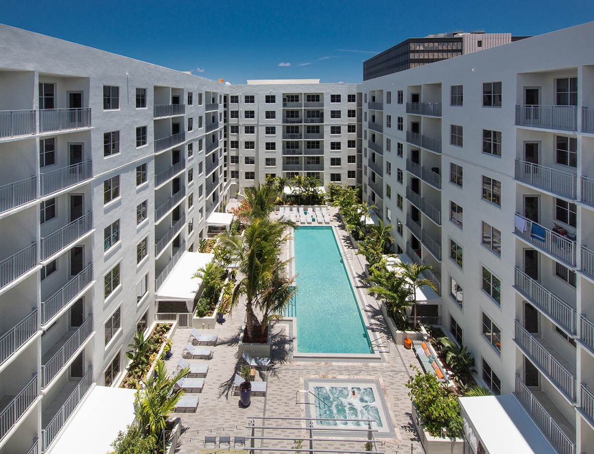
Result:
M516 125L577 131L577 107L516 105Z

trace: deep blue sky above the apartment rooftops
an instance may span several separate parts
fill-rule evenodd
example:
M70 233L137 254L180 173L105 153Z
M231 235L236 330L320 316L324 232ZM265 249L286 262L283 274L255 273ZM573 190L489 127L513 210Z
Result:
M362 80L362 62L407 37L547 33L594 20L589 0L184 1L2 4L0 23L232 84Z

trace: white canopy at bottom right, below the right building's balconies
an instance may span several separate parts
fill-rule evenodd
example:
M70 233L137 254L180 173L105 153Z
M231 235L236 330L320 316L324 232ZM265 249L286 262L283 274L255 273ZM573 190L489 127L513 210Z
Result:
M555 453L514 396L460 398L460 407L473 452L480 440L487 454Z

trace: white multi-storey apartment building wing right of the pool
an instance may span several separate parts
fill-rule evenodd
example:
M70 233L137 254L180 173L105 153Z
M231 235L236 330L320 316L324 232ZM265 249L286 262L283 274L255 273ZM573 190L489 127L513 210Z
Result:
M564 454L594 446L592 39L583 24L362 89L364 200L432 265L422 314Z

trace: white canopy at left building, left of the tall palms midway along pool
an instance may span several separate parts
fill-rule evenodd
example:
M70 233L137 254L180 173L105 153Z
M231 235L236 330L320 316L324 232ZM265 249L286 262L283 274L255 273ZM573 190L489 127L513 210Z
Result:
M155 301L185 301L188 311L192 310L194 297L202 284L202 279L192 275L206 264L213 261L214 254L187 252L179 260L168 278L163 282Z

